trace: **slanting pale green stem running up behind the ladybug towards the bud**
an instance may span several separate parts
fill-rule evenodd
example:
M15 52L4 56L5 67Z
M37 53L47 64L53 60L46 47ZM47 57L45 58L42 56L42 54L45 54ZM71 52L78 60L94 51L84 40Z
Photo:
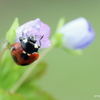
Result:
M47 48L44 50L40 55L40 58L32 64L20 77L20 79L14 84L14 86L11 88L11 92L16 92L20 86L24 83L24 81L30 76L31 72L34 70L34 68L37 66L37 64L42 60L42 58L51 50L54 46Z

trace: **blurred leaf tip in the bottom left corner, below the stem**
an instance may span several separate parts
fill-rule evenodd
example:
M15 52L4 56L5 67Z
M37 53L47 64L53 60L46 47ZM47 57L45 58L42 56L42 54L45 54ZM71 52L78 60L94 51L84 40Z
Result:
M8 91L0 89L0 100L25 100L20 94L11 94Z

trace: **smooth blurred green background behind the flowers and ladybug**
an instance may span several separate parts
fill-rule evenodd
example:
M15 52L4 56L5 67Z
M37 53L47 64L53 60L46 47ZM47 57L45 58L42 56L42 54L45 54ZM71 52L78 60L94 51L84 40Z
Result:
M43 59L48 67L38 84L58 100L100 99L94 97L100 95L100 0L0 0L0 39L15 17L20 25L40 18L51 27L51 36L61 17L66 23L78 17L89 20L96 38L83 50L84 55L53 49Z

